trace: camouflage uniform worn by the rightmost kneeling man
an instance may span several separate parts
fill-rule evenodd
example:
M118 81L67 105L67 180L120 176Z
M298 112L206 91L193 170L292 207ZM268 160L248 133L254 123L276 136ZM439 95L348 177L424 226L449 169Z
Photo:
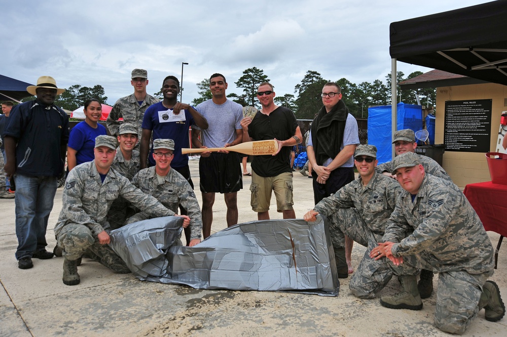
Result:
M382 241L399 242L392 252L404 262L390 263L394 274L416 275L416 268L439 273L435 325L462 333L480 310L484 282L493 274L493 246L459 188L425 175L414 201L402 191Z

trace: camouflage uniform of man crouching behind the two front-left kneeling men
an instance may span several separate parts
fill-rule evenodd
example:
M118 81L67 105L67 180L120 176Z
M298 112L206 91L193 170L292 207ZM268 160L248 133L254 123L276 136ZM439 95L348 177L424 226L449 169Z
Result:
M133 150L130 162L127 163L123 157L122 150L118 147L116 149L115 160L113 160L111 167L114 168L114 170L120 175L132 182L132 178L134 178L135 174L139 172L139 151ZM118 199L113 201L113 204L107 213L107 221L111 225L111 229L117 229L122 227L125 220L133 214L134 211L130 203L125 200L124 197L119 196Z

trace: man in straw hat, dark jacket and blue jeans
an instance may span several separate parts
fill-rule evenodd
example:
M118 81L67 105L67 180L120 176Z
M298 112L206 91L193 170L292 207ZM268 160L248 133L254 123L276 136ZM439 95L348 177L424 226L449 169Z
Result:
M51 259L46 229L53 209L58 177L63 173L68 141L68 116L53 103L65 89L51 76L41 76L26 91L37 99L16 105L5 131L7 176L16 182L16 259L20 269L32 258Z

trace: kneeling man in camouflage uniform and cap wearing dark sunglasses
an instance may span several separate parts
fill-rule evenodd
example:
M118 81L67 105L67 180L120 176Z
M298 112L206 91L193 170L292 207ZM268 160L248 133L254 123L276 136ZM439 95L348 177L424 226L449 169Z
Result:
M352 294L361 299L375 298L375 293L391 279L387 259L374 259L377 255L372 254L372 249L378 246L402 191L400 184L375 172L376 158L375 146L358 145L354 163L359 178L322 199L304 216L309 222L316 221L318 214L327 217L335 249L345 247L345 235L367 247L349 283Z

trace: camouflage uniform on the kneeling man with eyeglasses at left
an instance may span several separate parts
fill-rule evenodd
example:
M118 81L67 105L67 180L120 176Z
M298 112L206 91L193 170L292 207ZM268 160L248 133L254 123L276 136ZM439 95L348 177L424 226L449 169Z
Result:
M189 182L176 170L171 168L167 176L165 176L164 183L159 184L155 168L156 166L152 166L139 171L132 183L142 192L151 194L157 198L173 212L177 212L178 206L182 205L190 217L190 239L200 239L202 231L201 209ZM150 219L150 215L146 212L140 212L129 218L127 223L130 224L145 219Z

